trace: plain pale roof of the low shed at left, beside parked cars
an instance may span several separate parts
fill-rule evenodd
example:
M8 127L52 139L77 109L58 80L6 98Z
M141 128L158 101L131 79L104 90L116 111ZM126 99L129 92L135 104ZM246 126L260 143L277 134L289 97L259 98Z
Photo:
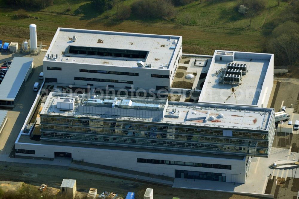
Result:
M25 76L32 67L33 58L14 57L10 68L0 84L0 100L14 101Z

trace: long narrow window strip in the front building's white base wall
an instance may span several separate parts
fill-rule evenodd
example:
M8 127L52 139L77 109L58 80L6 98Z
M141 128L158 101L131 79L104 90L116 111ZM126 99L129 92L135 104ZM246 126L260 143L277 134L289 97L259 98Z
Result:
M180 166L195 166L195 167L231 170L231 165L225 165L225 164L206 164L206 163L181 162L181 161L170 161L170 160L155 160L155 159L145 159L145 158L137 158L137 162L150 163L150 164L171 164L171 165L180 165Z

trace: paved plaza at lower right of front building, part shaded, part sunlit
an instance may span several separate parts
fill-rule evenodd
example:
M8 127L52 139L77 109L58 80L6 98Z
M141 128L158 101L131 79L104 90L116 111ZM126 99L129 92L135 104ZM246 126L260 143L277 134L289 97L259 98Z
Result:
M186 189L215 190L249 194L264 194L270 174L273 176L297 177L295 169L270 169L269 165L277 160L298 160L299 154L291 149L271 148L268 158L254 157L251 160L246 183L228 183L208 180L175 178L173 187Z

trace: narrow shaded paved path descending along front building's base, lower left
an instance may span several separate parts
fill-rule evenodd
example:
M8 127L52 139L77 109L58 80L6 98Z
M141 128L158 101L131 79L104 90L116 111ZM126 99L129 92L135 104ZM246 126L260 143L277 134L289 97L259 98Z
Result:
M106 174L106 175L130 178L132 180L141 180L141 181L145 181L145 182L164 184L164 185L168 185L168 186L172 186L172 184L173 184L172 181L168 181L168 180L161 180L161 179L152 178L152 177L133 175L133 174L127 174L127 173L122 173L122 172L116 172L116 171L111 171L111 170L106 170L106 169L99 169L99 168L95 168L95 167L74 164L74 163L71 163L70 158L64 158L64 157L56 157L56 158L54 158L53 161L50 161L50 160L34 160L34 159L25 159L25 158L10 158L10 157L8 157L8 155L1 154L0 161L26 163L26 164L47 164L47 165L67 166L67 167L71 167L71 168L75 168L75 169L81 169L83 171L87 170L87 171L98 172L98 173Z

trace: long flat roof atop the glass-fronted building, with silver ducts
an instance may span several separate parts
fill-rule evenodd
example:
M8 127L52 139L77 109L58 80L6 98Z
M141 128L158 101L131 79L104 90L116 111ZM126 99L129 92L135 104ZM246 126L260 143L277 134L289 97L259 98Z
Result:
M73 110L60 110L57 108L57 100L59 97L67 95L62 93L50 93L41 111L43 115L66 115L73 117L99 117L113 118L119 120L148 121L168 124L183 124L188 126L210 126L220 128L236 128L251 130L269 130L269 122L274 117L274 109L244 107L238 105L224 104L200 104L188 102L172 102L168 100L146 100L138 99L139 106L135 108L121 106L119 101L126 99L135 102L136 98L116 97L115 102L106 104L89 105L88 99L91 95L76 94L79 98L75 103ZM106 98L104 96L96 96L99 99ZM143 102L144 100L144 102ZM106 101L106 100L104 100ZM140 102L143 102L140 103ZM151 104L148 104L151 103ZM114 105L113 105L114 104ZM159 108L152 109L153 105L159 105ZM149 106L152 105L152 106ZM85 111L80 111L82 107L86 107ZM104 111L92 110L94 107L103 107ZM141 110L140 112L130 112L132 109ZM152 112L163 113L158 115L155 120L155 114Z

